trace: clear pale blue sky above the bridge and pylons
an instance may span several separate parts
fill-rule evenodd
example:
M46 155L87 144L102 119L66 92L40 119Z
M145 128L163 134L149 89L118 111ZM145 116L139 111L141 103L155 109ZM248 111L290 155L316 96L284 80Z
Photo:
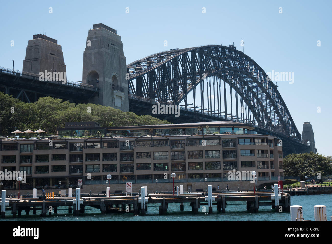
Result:
M278 82L279 91L297 129L309 121L318 153L331 155L331 8L331 1L4 1L0 66L11 68L13 59L22 70L28 40L44 33L62 46L67 79L81 81L86 36L97 23L117 29L127 63L220 41L242 50L244 38L244 52L266 72L294 72L294 83Z

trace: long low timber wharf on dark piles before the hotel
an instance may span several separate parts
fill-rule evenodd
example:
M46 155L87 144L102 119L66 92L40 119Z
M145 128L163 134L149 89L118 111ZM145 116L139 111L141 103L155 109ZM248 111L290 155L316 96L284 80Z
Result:
M259 206L272 206L275 211L279 211L279 206L282 206L283 212L290 212L290 194L282 193L279 200L279 206L275 206L274 200L271 200L271 195L274 192L213 192L212 196L215 197L212 205L217 206L219 213L225 213L227 202L247 202L247 211L251 213L257 213ZM166 214L168 205L170 203L180 203L180 211L183 211L183 204L189 203L192 207L192 212L198 214L200 206L208 205L205 194L202 193L184 193L180 195L173 194L148 194L148 201L145 204L145 209L141 209L141 203L139 201L140 196L138 194L133 196L111 196L111 197L82 197L80 198L80 210L74 211L74 215L83 215L85 213L85 207L93 207L101 210L101 214L105 213L133 213L134 215L145 215L148 210L148 205L161 204L159 206L159 214ZM8 204L6 210L11 211L13 217L16 215L21 216L22 211L26 211L29 214L33 211L33 214L37 214L37 210L41 210L41 216L46 216L49 211L53 209L53 213L57 214L58 207L68 207L68 213L71 214L73 207L75 209L75 197L54 197L53 199L41 199L41 198L29 198L25 197L22 200L18 198L6 199ZM52 207L52 208L50 208ZM154 206L155 207L155 206ZM2 214L2 217L5 217Z

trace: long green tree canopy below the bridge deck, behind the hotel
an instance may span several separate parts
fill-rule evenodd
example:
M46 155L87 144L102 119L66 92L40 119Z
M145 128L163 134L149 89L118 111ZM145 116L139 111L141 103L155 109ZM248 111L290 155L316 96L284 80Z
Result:
M90 107L90 108L88 108ZM34 103L25 103L0 92L0 135L8 136L14 130L56 134L65 122L96 121L101 127L170 124L150 115L136 115L119 109L93 103L77 104L50 96Z

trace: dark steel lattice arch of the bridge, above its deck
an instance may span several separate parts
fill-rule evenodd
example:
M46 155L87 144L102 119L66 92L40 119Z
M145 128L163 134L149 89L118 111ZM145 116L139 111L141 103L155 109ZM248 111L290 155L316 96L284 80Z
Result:
M131 97L142 97L156 102L178 105L193 93L194 110L201 107L208 113L221 117L224 95L224 113L227 118L226 84L229 85L231 112L232 89L236 96L236 119L239 120L238 99L242 121L253 115L254 123L270 131L276 131L301 141L290 112L277 87L264 70L249 56L232 47L207 45L194 48L175 49L156 53L127 65L128 92ZM134 82L135 81L135 86ZM207 83L207 109L204 107L204 82ZM223 84L222 84L223 83ZM211 99L211 84L217 87L217 101ZM201 106L196 106L196 87L201 86ZM217 111L215 109L217 102ZM243 105L244 103L244 105ZM245 111L243 111L245 108ZM247 109L248 108L248 109ZM248 113L247 113L248 112Z

